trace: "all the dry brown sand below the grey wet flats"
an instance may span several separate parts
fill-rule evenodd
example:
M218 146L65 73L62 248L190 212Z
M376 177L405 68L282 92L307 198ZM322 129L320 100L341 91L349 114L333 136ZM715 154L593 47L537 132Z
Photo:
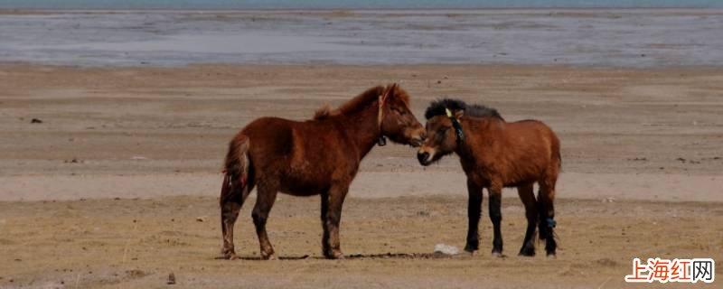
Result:
M281 195L270 238L280 256L308 258L214 259L230 137L256 117L305 119L392 80L418 117L451 96L559 133L558 258L516 256L524 221L512 190L509 257L486 254L486 218L479 256L425 255L465 245L464 175L454 157L423 168L414 150L388 145L364 160L344 210L343 249L362 256L319 259L317 199ZM613 288L633 257L655 256L713 257L720 275L722 91L715 68L3 65L0 287L165 287L174 272L176 287ZM258 256L248 205L241 214L239 254Z

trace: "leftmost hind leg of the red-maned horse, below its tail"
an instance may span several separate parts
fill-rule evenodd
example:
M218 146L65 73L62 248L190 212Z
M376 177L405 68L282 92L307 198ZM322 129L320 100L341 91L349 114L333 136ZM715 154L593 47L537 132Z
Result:
M240 188L238 187L240 186ZM239 217L239 210L244 200L253 190L252 183L239 184L230 180L227 174L221 185L221 232L223 234L223 247L221 256L227 259L235 259L236 251L233 246L233 225Z

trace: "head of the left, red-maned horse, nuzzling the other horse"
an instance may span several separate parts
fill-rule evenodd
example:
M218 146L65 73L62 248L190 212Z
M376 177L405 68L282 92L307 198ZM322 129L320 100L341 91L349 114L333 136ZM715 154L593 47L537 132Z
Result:
M396 83L388 85L379 97L379 126L382 137L392 142L419 146L424 141L425 130L409 110L407 91Z

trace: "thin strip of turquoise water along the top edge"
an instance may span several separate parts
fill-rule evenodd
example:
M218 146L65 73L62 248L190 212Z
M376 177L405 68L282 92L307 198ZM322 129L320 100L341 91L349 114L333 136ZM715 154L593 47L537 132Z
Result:
M723 8L723 0L0 0L0 9Z

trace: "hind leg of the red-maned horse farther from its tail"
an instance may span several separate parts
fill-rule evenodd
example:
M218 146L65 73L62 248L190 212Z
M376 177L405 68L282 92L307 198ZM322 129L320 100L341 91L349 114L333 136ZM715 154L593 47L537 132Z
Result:
M261 258L267 260L274 259L274 247L272 247L271 242L268 241L266 222L268 212L271 211L271 207L274 206L274 201L277 200L277 188L269 186L268 184L262 185L259 183L257 193L258 197L254 210L251 212L251 217L254 219L254 226L256 226L258 244L261 247Z

